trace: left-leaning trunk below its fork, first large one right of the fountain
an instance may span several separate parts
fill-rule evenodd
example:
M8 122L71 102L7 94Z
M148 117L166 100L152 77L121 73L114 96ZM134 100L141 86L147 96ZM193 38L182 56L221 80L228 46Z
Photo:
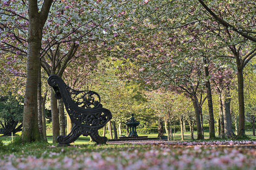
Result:
M196 129L197 129L197 140L204 139L204 136L202 135L202 127L201 127L201 120L200 120L200 113L199 113L199 104L198 99L196 95L191 96L190 98L192 100L195 114L196 114Z

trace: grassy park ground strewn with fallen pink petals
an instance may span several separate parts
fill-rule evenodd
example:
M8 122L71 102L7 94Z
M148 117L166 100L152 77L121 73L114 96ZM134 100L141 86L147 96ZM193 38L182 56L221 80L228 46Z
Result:
M145 135L145 134L143 134ZM157 134L147 134L156 137ZM18 169L129 169L129 170L200 170L200 169L256 169L256 139L246 132L245 139L180 141L108 142L96 145L89 137L81 136L70 147L49 143L19 144L11 137L1 137L0 170ZM109 136L107 136L109 137ZM195 134L196 138L196 134ZM4 144L5 143L5 144Z

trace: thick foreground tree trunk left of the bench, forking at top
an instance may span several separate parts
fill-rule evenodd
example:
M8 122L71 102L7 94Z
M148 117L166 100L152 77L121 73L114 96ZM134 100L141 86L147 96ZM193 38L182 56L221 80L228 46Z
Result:
M22 143L40 141L37 115L38 69L40 68L42 30L51 5L52 0L45 1L41 11L38 12L37 1L28 1L27 80L24 95Z

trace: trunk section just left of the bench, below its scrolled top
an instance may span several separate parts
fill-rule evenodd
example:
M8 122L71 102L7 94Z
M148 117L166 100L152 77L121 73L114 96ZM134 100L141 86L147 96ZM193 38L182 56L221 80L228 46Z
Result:
M60 135L60 121L58 112L58 102L51 89L51 110L52 110L52 143L57 143L57 137Z

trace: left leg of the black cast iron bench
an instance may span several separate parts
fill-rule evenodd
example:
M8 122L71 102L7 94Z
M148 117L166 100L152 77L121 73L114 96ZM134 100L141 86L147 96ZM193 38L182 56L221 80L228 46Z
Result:
M74 123L74 126L68 135L58 136L57 141L59 142L59 144L57 146L70 146L69 143L75 142L75 140L82 134L80 130L81 128L79 128L80 127Z

